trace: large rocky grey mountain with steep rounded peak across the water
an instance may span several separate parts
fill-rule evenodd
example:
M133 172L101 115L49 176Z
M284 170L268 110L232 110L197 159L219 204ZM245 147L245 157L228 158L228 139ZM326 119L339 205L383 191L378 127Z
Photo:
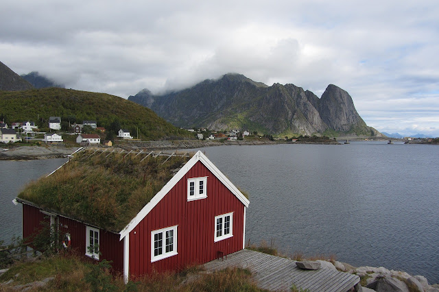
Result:
M204 80L191 88L128 100L151 108L178 127L250 130L267 134L357 134L379 136L359 117L351 96L329 85L322 98L294 84L267 86L240 74Z

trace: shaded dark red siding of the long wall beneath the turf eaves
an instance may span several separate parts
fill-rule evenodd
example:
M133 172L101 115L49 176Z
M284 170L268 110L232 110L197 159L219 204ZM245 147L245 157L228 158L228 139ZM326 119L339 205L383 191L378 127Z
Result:
M42 226L40 221L50 222L49 216L40 212L40 209L23 204L23 238L34 234L34 230ZM58 216L58 230L60 234L69 232L71 248L83 254L86 253L86 225L80 221ZM119 234L99 230L99 250L102 253L99 259L112 260L112 267L116 271L123 271L123 241L119 241Z

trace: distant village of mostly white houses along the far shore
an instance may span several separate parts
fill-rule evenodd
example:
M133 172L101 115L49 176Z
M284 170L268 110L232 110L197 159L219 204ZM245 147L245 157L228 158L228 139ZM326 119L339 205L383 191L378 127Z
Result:
M82 121L82 123L73 123L69 130L64 131L61 127L61 117L49 117L48 120L49 132L39 132L38 125L34 121L23 121L5 123L0 121L0 142L1 143L15 143L15 142L36 142L41 141L47 144L64 143L67 135L75 136L75 143L81 146L104 144L112 146L114 140L119 141L139 141L134 138L130 130L121 128L117 132L115 139L104 140L102 137L106 136L106 129L104 127L97 127L96 121ZM227 140L227 141L242 141L250 132L239 130L231 130L230 132L216 132L206 129L189 129L188 132L193 132L193 138L198 140ZM253 134L256 134L254 132ZM69 139L71 140L71 139ZM113 140L113 141L111 141Z

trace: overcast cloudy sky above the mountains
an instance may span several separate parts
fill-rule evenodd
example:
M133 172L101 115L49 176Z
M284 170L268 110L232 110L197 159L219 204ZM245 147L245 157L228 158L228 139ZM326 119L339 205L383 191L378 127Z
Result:
M128 98L225 73L346 90L381 132L439 136L439 1L2 0L0 58Z

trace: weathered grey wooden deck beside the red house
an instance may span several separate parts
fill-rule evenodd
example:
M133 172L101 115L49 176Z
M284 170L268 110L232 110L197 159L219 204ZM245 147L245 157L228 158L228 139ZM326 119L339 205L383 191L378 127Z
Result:
M289 291L292 285L308 291L346 292L359 282L359 276L333 269L304 270L296 261L252 250L240 250L227 259L204 264L207 271L226 267L248 268L258 287L270 291Z

